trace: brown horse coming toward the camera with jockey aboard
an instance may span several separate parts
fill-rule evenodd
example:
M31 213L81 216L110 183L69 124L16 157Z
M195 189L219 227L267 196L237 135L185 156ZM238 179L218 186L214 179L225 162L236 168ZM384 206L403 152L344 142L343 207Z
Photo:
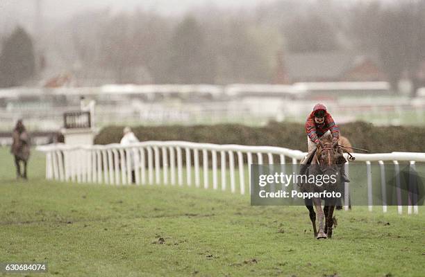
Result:
M317 175L335 177L335 182L328 181L321 186L316 183L301 183L301 192L303 193L323 193L335 192L340 193L340 178L338 177L338 163L341 162L340 154L338 153L338 143L331 141L331 136L322 137L322 146L317 148L313 157L312 165L308 168L307 175ZM316 179L317 180L317 179ZM322 199L324 200L324 208L322 209ZM320 238L332 238L332 227L336 225L336 219L333 218L333 211L338 197L312 197L304 199L308 208L310 220L313 224L314 236ZM319 221L319 230L316 228L316 213ZM324 222L325 220L325 222Z

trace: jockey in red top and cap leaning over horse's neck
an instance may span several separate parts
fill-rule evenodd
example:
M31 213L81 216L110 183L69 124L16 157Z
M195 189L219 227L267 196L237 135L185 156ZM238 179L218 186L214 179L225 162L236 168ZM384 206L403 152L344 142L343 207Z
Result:
M338 128L338 125L335 124L335 121L333 121L331 114L326 111L326 107L323 104L317 104L306 120L306 133L308 142L308 155L303 160L303 162L301 162L301 164L304 165L304 168L306 168L306 165L310 161L310 157L315 153L317 147L322 144L320 138L322 138L322 136L331 135L333 143L338 143L340 129ZM342 156L342 149L337 149L338 153ZM341 164L338 165L338 167L340 168L342 181L349 182L350 180L345 175L344 166Z

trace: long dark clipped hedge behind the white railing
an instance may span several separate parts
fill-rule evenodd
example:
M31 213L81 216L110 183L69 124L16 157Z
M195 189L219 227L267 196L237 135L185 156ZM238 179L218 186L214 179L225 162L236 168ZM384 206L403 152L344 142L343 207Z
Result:
M105 127L94 139L96 144L119 143L124 126ZM140 141L192 141L199 143L269 145L306 151L306 133L300 123L269 123L264 127L238 124L172 125L133 127ZM425 127L377 127L355 122L340 125L341 133L353 147L370 152L425 152Z

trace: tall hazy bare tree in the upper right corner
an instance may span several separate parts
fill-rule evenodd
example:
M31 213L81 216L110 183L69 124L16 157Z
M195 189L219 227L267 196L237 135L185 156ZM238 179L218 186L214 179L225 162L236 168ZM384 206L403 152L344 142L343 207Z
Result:
M403 76L419 86L419 66L425 61L425 3L400 1L388 6L372 2L353 9L351 37L363 51L378 53L392 89Z

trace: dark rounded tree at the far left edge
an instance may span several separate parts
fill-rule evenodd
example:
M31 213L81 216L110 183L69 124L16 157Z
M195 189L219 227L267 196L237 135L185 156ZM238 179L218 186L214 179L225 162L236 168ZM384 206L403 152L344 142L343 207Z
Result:
M35 55L31 37L17 27L5 39L0 55L0 86L14 87L35 75Z

